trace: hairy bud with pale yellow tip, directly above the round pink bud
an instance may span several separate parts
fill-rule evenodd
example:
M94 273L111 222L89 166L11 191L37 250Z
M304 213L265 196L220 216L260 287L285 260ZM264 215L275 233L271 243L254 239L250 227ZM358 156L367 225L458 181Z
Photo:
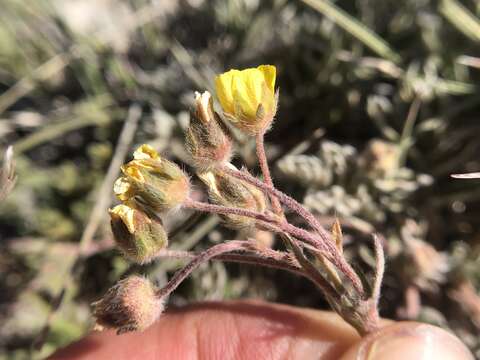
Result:
M109 213L115 242L126 258L143 264L167 247L167 233L155 215L150 217L128 203Z

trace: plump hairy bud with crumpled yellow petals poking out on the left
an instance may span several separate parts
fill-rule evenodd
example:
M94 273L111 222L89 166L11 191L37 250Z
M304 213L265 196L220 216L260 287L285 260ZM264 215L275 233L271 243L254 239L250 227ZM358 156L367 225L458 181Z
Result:
M164 211L182 204L188 196L189 181L185 173L148 145L139 147L134 160L121 169L123 176L113 187L121 201L135 198L155 211Z

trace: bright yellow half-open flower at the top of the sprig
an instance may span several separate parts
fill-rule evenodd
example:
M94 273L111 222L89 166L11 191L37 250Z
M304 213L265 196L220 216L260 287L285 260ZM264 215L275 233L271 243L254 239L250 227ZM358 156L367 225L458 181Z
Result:
M250 135L267 130L277 107L275 77L273 65L218 75L215 87L225 116Z

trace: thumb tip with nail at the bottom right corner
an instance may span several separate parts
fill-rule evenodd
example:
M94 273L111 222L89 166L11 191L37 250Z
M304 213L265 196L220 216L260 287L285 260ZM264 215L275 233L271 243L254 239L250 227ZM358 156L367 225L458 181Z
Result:
M400 322L363 338L341 358L353 359L473 360L473 355L456 336L441 328Z

